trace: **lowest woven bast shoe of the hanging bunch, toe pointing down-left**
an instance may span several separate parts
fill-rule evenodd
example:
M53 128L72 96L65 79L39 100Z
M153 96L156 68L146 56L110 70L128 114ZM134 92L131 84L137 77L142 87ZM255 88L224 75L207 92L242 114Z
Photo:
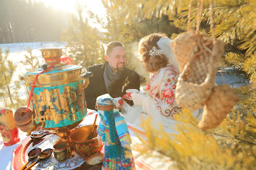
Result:
M202 119L198 124L203 131L216 128L237 103L237 95L227 84L216 86L206 101Z

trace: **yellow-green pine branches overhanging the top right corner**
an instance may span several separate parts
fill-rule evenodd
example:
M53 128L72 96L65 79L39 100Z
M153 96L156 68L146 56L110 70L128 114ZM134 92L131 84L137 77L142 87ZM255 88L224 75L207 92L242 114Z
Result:
M115 2L118 8L122 8L123 13L125 13L128 18L136 15L138 18L151 19L153 16L161 17L162 15L168 15L169 19L173 20L176 27L184 31L187 28L189 0L152 0L146 2L143 0L124 0L123 2L112 0L112 2ZM129 8L130 6L133 8ZM200 31L206 32L210 36L209 0L204 1L203 8ZM214 1L213 20L215 24L215 36L226 42L227 52L237 53L232 56L230 56L231 53L229 53L225 56L224 58L227 58L227 61L224 63L231 63L231 65L236 67L240 66L248 76L254 76L253 73L256 71L254 66L250 66L249 69L244 68L244 61L246 59L248 59L247 62L254 59L256 47L256 13L254 12L254 8L256 8L256 2L251 0ZM192 28L195 28L197 15L196 1L192 1L191 12ZM175 35L172 37L175 37ZM230 46L232 47L231 49ZM243 60L242 63L237 62L237 59ZM247 70L250 71L247 72ZM254 80L253 77L249 79Z

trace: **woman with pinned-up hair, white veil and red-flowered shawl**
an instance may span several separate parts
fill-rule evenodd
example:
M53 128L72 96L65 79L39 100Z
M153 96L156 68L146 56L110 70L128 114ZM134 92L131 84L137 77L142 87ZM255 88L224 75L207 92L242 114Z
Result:
M144 117L153 117L155 124L162 124L165 130L171 131L171 124L175 122L173 115L181 111L175 101L179 70L171 42L165 34L160 33L140 40L138 58L150 73L150 80L145 87L147 96L131 94L134 106L124 106L126 121L140 125ZM141 112L147 116L142 117Z

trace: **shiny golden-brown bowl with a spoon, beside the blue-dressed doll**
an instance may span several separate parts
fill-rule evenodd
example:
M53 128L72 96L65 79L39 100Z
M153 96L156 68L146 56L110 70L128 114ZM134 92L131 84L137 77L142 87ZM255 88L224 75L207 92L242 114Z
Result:
M91 139L88 138L91 135L92 125L79 127L71 132L70 138L74 146L74 151L81 156L81 158L86 159L99 152L100 146L97 138L97 127L98 126L95 125L95 131Z

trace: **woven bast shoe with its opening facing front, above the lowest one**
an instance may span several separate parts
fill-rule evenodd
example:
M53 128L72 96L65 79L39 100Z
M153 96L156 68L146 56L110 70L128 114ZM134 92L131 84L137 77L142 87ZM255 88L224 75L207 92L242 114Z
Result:
M212 93L224 44L219 40L214 42L213 38L200 32L192 32L190 35L195 44L193 50L184 56L185 60L189 57L190 60L178 77L175 98L180 107L196 110L204 105L209 94ZM182 40L177 42L182 42ZM187 46L175 48L176 51L182 51ZM177 58L181 57L177 56ZM180 66L183 65L184 63Z

